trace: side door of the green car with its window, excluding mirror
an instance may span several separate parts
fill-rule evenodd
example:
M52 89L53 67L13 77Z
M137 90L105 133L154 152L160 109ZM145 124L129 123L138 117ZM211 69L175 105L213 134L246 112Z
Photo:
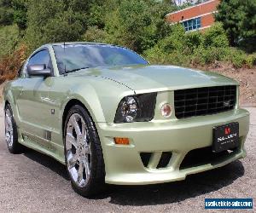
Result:
M32 55L26 64L26 68L38 64L45 64L47 68L52 70L48 49L41 49ZM46 140L45 133L48 130L47 120L50 114L48 104L50 78L30 77L26 73L26 77L20 79L20 81L22 81L22 89L16 99L22 123L20 129L32 139Z

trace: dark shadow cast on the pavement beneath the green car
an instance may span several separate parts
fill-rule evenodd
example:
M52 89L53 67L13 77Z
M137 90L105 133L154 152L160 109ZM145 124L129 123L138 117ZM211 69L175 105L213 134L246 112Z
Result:
M49 168L49 170L55 171L65 180L69 180L65 166L55 161L55 159L32 150L28 150L23 154L38 164ZM111 204L134 206L178 203L185 199L195 198L227 187L237 178L243 176L244 172L241 161L236 160L215 170L187 176L184 181L147 186L107 185L106 193L91 199L110 198L109 203Z

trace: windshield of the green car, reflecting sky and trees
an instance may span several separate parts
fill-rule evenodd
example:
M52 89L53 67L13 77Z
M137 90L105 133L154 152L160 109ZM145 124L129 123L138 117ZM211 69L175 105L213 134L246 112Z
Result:
M96 66L145 65L148 61L130 49L108 44L54 45L60 74Z

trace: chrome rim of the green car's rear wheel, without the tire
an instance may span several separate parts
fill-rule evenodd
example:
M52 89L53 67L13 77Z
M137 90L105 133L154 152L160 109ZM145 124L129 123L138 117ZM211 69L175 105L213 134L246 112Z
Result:
M14 126L12 122L12 113L9 109L5 111L5 141L8 147L13 147L14 144Z

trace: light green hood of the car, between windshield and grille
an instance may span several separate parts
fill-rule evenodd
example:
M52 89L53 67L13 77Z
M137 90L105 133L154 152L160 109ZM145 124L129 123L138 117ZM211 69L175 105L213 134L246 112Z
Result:
M203 72L179 66L97 67L85 72L124 84L134 91L161 91L238 84L215 72Z

